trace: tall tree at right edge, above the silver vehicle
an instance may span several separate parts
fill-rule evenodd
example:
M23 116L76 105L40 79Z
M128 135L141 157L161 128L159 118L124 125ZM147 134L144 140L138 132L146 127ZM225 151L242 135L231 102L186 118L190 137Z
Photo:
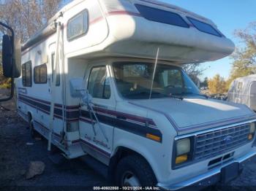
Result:
M256 21L244 30L236 30L235 36L241 39L242 46L231 55L234 61L227 87L233 79L256 73Z

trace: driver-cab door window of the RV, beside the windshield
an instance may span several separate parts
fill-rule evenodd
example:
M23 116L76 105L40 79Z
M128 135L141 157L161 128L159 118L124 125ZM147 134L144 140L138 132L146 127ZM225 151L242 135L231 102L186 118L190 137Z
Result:
M97 66L91 69L88 90L93 98L110 98L110 82L106 66Z

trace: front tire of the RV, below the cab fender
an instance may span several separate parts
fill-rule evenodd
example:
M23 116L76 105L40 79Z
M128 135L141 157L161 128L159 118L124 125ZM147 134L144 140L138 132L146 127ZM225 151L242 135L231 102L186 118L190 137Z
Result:
M116 166L116 185L120 187L156 186L157 179L147 161L139 155L122 158Z

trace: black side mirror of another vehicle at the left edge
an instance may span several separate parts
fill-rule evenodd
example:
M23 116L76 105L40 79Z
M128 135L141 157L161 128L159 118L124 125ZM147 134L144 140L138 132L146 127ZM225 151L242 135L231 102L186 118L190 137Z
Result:
M13 43L12 36L4 34L2 39L2 65L4 77L20 77L20 40Z

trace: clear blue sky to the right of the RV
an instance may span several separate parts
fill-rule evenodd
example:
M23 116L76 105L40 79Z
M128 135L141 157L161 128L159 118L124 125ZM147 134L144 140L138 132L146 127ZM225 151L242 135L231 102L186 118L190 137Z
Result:
M161 0L167 3L188 9L198 15L211 19L225 34L238 46L241 45L239 39L233 34L236 29L244 29L252 21L256 21L256 0ZM227 77L230 74L232 59L222 58L211 63L202 63L206 69L202 77L214 77L215 74Z

